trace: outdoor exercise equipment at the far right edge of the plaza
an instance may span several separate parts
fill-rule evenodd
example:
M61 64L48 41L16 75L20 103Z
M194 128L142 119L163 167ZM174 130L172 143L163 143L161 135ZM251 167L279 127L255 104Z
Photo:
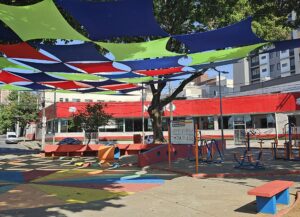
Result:
M300 160L300 144L298 141L297 127L293 123L287 123L283 128L283 134L283 145L279 145L277 139L274 139L272 143L274 160Z

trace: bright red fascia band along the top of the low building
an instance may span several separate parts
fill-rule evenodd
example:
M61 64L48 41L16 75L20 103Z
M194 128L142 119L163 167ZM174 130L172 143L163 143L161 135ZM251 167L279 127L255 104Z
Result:
M300 93L280 93L280 94L264 94L254 96L237 96L223 98L223 114L256 114L256 113L274 113L274 112L293 112L300 110L300 106L296 104L296 99L300 97ZM87 103L58 102L57 118L68 118L72 116L69 107L76 107L77 110L85 108ZM114 118L135 118L141 117L142 102L108 102L105 111ZM145 102L148 106L150 102ZM219 99L197 99L197 100L175 100L173 101L175 117L190 116L211 116L219 115L220 102ZM53 106L52 106L53 107ZM47 118L53 118L51 107L46 108ZM164 116L170 113L165 110ZM144 113L148 117L148 112Z

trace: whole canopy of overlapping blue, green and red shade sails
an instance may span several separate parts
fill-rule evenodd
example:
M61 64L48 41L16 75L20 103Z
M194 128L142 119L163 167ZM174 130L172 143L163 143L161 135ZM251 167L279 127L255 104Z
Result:
M82 32L87 32L87 37L65 20L54 1L82 27ZM0 20L3 22L0 22L3 56L0 57L0 89L10 90L125 94L140 90L141 83L172 81L172 77L202 68L234 63L268 45L252 32L251 18L204 33L169 35L155 21L152 0L43 0L28 6L0 4ZM133 36L161 38L134 43L100 42ZM189 53L168 51L171 37L183 43ZM29 41L33 39L39 40ZM45 39L56 41L41 42ZM65 40L75 41L65 43ZM300 41L279 41L273 45L272 51L286 50L300 47ZM99 46L103 48L102 54ZM107 55L104 49L109 52Z

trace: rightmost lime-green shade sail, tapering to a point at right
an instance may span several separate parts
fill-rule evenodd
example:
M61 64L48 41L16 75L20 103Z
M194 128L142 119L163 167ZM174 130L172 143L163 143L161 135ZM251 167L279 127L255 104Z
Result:
M189 54L193 59L190 66L200 65L204 63L218 62L222 60L238 59L248 56L248 54L266 43L259 43L239 48L230 48L226 50L209 51L202 53Z

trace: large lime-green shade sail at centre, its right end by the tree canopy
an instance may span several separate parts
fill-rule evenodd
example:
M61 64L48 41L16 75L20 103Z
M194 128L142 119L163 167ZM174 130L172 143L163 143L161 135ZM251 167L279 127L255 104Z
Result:
M116 61L123 61L180 55L166 49L169 39L170 37L147 42L126 44L106 42L95 43L110 51L115 56Z

